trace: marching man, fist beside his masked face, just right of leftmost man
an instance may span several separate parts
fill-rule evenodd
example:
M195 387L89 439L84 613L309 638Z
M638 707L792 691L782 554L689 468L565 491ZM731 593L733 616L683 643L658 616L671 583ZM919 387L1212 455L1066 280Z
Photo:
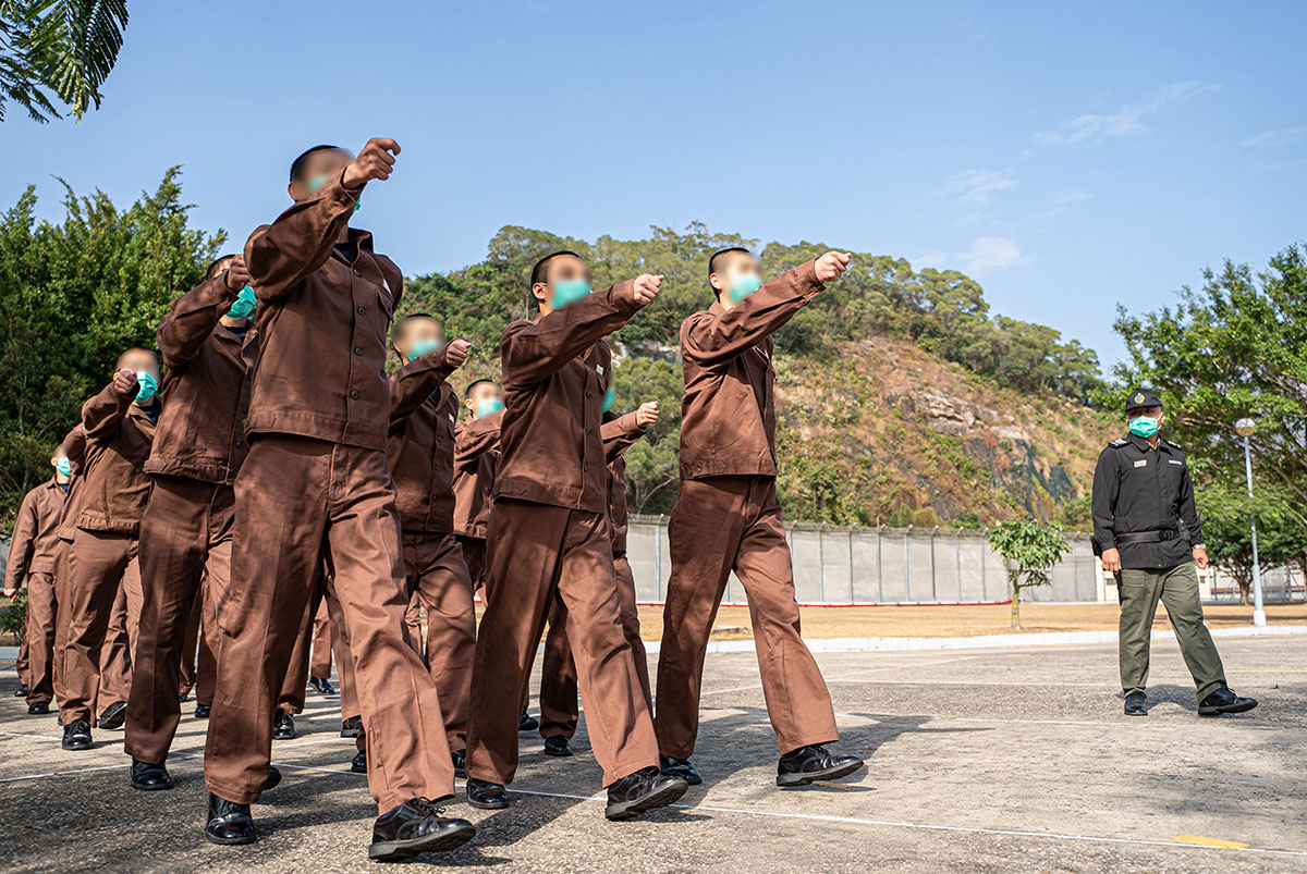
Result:
M101 685L101 653L110 613L124 593L127 632L135 643L141 592L137 545L150 496L144 465L158 421L158 379L154 353L128 349L118 357L114 380L82 406L86 481L69 555L68 598L60 604L68 610L68 640L55 688L65 750L91 746L90 708ZM101 728L123 724L129 674L124 679L125 687L115 690L122 699L101 713Z

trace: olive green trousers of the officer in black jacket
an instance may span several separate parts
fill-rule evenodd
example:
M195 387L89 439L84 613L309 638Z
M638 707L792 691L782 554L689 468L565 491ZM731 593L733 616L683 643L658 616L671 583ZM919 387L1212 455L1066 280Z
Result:
M1127 695L1142 692L1148 686L1149 635L1158 601L1166 605L1199 700L1226 687L1221 655L1202 624L1199 575L1191 562L1158 570L1125 568L1116 574L1116 592L1121 602L1121 688Z

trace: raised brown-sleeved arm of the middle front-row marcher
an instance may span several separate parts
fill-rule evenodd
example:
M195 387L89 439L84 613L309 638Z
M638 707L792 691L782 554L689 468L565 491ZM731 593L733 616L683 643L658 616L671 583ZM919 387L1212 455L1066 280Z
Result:
M625 325L640 306L635 282L627 280L533 323L512 323L499 341L505 381L519 385L544 381Z

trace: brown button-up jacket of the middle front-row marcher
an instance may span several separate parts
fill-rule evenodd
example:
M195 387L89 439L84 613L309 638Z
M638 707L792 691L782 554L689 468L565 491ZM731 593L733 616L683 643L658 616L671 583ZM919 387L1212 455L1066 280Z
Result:
M600 338L637 310L634 283L626 281L505 329L497 500L608 512L608 462L599 431L613 355Z

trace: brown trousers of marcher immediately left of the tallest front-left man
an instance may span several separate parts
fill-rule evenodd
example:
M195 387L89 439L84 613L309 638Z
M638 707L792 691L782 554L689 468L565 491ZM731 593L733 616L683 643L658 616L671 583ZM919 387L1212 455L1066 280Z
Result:
M196 609L204 610L201 581L210 601L229 597L234 503L231 486L154 478L141 517L142 645L127 707L125 749L140 762L162 763L176 734L183 644Z

